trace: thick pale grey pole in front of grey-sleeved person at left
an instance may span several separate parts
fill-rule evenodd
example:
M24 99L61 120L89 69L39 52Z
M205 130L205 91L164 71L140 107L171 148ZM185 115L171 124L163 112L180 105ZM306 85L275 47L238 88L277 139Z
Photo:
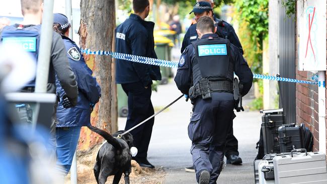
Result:
M40 50L36 67L35 93L47 93L47 83L50 66L50 52L52 43L53 0L46 0L43 4L42 26L40 35ZM36 127L40 104L36 103L33 110L32 125Z

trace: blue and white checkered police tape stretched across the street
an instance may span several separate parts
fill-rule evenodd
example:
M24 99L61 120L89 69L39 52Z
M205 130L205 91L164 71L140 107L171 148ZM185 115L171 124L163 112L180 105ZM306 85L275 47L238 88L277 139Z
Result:
M156 66L166 66L171 68L178 68L178 62L175 61L167 61L162 59L155 59L155 58L149 58L149 57L143 57L143 56L135 56L131 54L124 54L124 53L118 53L118 52L111 52L111 51L91 51L90 49L80 49L80 52L86 53L86 54L95 54L95 55L110 55L113 58L116 59L123 59L127 61L132 62L138 62L143 64L151 64ZM263 74L253 74L253 78L258 79L268 79L268 80L277 80L277 81L285 81L285 82L295 82L295 83L306 83L306 84L318 84L318 82L313 81L305 81L305 80L297 80L293 78L284 78L284 77L277 77L277 76L271 76L271 75L263 75Z

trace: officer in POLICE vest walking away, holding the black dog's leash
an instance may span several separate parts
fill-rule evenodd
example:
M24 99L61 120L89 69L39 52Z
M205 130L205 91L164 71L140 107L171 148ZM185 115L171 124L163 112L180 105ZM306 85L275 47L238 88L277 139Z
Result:
M253 74L239 49L219 38L212 19L197 23L199 40L183 52L175 82L193 107L188 127L197 181L216 183L223 165L227 131L233 116L233 72L242 85L241 95L252 86Z

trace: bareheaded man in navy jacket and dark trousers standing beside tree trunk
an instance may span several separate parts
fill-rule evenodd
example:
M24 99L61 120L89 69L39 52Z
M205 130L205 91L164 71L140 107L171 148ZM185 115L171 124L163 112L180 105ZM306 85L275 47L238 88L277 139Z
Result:
M153 22L144 21L149 15L148 0L133 0L129 18L116 28L116 51L157 58L154 52ZM116 62L116 82L122 85L128 96L128 116L125 130L128 130L154 114L151 103L152 80L161 80L159 66L146 65L122 59ZM154 168L147 160L154 118L131 131L133 144L138 149L132 157L140 166Z

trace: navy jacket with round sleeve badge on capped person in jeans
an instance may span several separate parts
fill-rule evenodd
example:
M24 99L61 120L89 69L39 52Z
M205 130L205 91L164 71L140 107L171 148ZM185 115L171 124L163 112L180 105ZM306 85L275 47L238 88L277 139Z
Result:
M101 97L101 88L97 79L92 76L92 70L85 63L83 55L75 42L62 36L65 44L69 65L76 76L78 85L77 105L65 109L63 101L58 103L56 127L81 127L91 124L91 105L96 104ZM56 80L57 94L60 99L65 94L60 82Z

